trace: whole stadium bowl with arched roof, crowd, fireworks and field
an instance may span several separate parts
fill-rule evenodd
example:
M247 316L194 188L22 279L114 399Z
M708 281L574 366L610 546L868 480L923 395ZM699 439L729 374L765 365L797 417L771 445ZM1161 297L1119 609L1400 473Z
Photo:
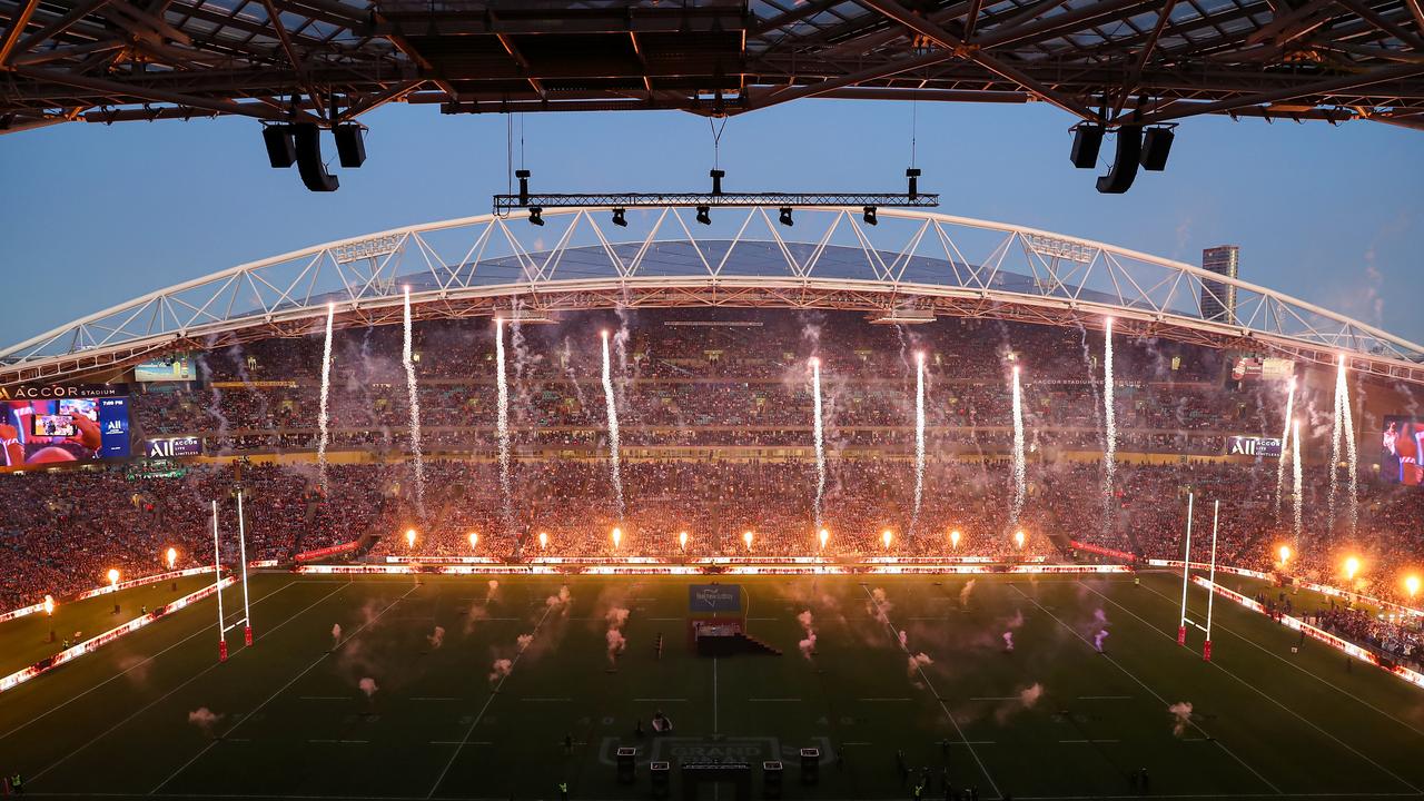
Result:
M1420 345L1018 225L612 212L7 348L7 781L1421 794Z

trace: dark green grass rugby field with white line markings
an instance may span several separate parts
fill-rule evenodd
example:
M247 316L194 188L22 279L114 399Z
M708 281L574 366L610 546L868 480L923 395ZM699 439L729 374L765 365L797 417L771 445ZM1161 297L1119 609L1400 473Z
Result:
M1203 663L1176 646L1180 579L1168 574L1141 587L980 577L967 596L963 577L725 579L748 591L750 633L786 653L716 660L688 653L688 579L572 577L558 606L547 603L558 579L498 577L493 596L486 582L256 576L258 640L245 648L234 633L225 664L206 600L0 696L0 771L67 798L557 798L560 781L572 798L648 798L644 765L637 784L615 780L614 750L634 745L641 763L785 754L787 798L907 798L921 768L927 798L944 797L941 768L983 798L1135 797L1138 768L1151 795L1175 798L1424 788L1424 694L1347 670L1319 643L1292 654L1293 633L1230 603L1216 606ZM137 597L120 601L148 603ZM95 600L87 614L103 620L114 601ZM1193 604L1205 606L1199 589ZM614 670L615 607L629 616ZM797 651L802 611L812 658ZM46 631L0 627L0 650L43 654ZM523 651L521 634L533 634ZM931 661L911 670L918 653ZM501 658L511 671L491 680ZM362 678L375 681L369 698ZM1192 714L1173 731L1179 703ZM208 730L189 720L199 708L219 715ZM637 737L635 721L646 730L658 710L675 731ZM792 757L805 745L824 754L816 785L800 784ZM676 771L672 782L679 797Z

